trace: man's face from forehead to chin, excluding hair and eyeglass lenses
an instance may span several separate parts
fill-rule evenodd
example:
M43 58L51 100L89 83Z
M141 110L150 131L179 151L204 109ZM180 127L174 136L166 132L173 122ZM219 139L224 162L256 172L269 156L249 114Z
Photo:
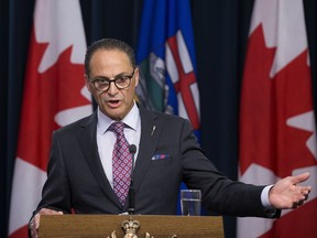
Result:
M119 50L98 50L90 61L90 79L107 77L113 79L122 75L131 75L133 67L124 52ZM105 91L98 91L86 76L86 86L92 94L100 110L113 120L123 119L133 107L135 87L139 84L139 69L135 68L128 88L118 89L111 83Z

